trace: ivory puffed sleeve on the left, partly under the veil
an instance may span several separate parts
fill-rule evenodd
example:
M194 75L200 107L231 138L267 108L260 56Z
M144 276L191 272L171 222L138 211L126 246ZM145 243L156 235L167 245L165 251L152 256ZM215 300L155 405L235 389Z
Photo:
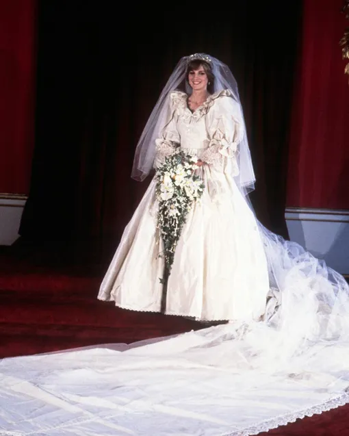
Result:
M168 107L168 115L164 128L157 140L155 140L155 160L154 168L157 168L164 163L166 157L172 155L179 146L180 136L177 131L177 101L181 98L179 92L172 92L170 94L170 103Z

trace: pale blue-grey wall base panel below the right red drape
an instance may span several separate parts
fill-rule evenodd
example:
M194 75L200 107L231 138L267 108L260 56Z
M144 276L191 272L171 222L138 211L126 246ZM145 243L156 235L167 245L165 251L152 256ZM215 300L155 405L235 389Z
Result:
M349 210L287 207L289 238L349 278Z

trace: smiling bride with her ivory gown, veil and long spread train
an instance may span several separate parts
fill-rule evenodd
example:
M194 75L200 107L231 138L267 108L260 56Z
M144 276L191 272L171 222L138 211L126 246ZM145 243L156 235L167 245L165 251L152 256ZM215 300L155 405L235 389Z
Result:
M178 151L205 188L167 284L157 175ZM134 344L0 361L1 436L245 436L349 402L349 287L248 201L255 175L229 68L196 53L166 84L136 149L155 167L99 298L139 311L228 320Z

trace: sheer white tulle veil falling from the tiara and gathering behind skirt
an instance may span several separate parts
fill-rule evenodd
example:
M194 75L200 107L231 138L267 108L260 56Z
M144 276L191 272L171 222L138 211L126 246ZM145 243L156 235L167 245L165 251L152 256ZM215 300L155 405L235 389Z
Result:
M144 179L151 170L155 156L155 139L167 119L170 92L181 84L187 86L185 73L188 62L203 60L214 73L214 92L231 91L237 103L243 139L238 145L240 174L233 177L250 209L248 192L255 188L255 173L248 146L248 137L237 82L227 65L206 53L182 57L154 107L138 142L133 162L132 177ZM187 89L187 91L189 88ZM295 242L286 241L275 235L257 220L263 240L270 276L270 296L263 324L273 332L274 341L280 342L284 355L300 354L313 341L324 342L346 340L349 333L349 286L340 274L328 268L324 261L316 259ZM246 266L246 274L250 274ZM232 290L232 292L236 292ZM285 340L284 340L285 339ZM273 341L273 343L274 343ZM270 350L270 347L268 347ZM261 351L263 352L263 351Z

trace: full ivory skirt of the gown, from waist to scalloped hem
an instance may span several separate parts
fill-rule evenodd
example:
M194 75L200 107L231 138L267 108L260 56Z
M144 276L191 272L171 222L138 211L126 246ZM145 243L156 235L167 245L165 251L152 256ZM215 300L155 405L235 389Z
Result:
M177 244L166 314L258 320L266 308L269 279L255 216L228 173L204 166L201 174L205 190L189 212ZM125 309L160 311L164 259L155 187L153 179L125 228L99 292L99 299Z

